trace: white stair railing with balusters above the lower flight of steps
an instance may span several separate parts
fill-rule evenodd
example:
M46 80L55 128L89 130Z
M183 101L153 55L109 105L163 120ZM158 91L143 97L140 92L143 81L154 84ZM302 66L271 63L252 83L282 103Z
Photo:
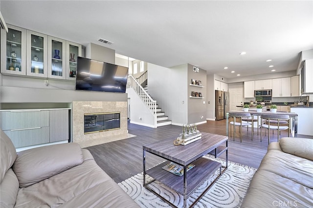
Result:
M146 104L150 111L154 114L156 124L156 101L146 92L146 90L138 83L138 81L129 75L127 79L127 88L133 88L141 100Z

